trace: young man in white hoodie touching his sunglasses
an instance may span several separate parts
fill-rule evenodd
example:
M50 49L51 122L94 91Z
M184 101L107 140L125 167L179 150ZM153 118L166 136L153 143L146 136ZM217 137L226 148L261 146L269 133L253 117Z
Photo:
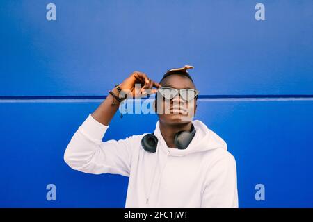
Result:
M79 127L66 148L65 162L85 173L129 176L125 207L238 207L234 157L202 121L188 118L198 99L187 71L191 68L171 69L160 83L139 71L132 73ZM139 95L136 84L141 85ZM102 142L118 110L120 90L126 90L128 98L157 93L159 121L153 134Z

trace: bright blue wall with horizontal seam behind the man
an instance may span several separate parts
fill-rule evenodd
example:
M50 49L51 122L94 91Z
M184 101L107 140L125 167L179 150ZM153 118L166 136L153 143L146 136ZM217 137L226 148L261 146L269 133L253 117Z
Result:
M65 148L131 71L159 80L186 64L196 119L236 157L240 207L313 207L313 1L3 0L0 25L0 207L124 207L128 178L72 171ZM104 140L156 121L117 114Z

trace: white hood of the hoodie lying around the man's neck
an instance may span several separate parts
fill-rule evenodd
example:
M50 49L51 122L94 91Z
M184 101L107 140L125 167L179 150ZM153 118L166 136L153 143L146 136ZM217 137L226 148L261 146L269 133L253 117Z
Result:
M227 150L226 142L220 138L216 133L207 128L207 126L200 120L193 120L193 126L195 127L195 136L191 140L191 143L186 149L171 148L168 155L173 156L184 156L191 153L197 153L202 151L209 151L215 148L223 148ZM161 147L164 151L167 151L167 145L163 136L161 135L159 121L157 121L157 126L154 130L154 135L159 139L158 143L161 143Z

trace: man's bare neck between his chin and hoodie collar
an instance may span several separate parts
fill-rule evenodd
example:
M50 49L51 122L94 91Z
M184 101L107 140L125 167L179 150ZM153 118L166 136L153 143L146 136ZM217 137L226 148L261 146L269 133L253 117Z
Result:
M192 126L191 121L177 125L168 125L162 121L159 121L159 123L161 135L163 136L166 145L171 148L177 148L174 143L175 134L182 130L190 131Z

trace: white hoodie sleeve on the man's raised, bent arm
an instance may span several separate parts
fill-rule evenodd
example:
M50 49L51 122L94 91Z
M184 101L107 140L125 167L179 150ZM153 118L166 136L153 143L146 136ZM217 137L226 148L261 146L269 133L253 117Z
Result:
M89 114L67 145L65 162L72 169L84 173L129 176L132 137L102 142L108 128Z

